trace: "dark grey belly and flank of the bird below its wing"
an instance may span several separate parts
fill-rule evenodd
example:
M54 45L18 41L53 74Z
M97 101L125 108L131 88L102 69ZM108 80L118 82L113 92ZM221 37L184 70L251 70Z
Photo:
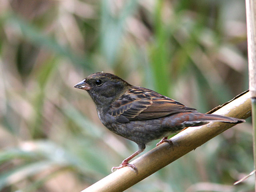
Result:
M188 126L186 118L180 118L176 114L126 123L117 123L116 118L111 115L101 116L100 120L110 131L137 144L147 144L153 140L170 136Z

